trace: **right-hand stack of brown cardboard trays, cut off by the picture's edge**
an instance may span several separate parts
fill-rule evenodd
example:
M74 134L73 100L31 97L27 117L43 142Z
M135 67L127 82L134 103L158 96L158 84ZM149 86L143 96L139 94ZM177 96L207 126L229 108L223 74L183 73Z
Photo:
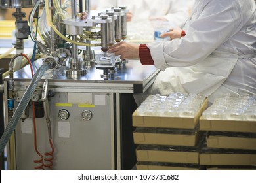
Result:
M247 108L251 108L249 104ZM223 120L214 119L216 116L203 115L200 118L200 131L208 131L200 165L207 166L207 169L256 169L256 121L243 117L249 114L246 110L241 114L231 116L238 119L229 120L230 114L225 111Z

